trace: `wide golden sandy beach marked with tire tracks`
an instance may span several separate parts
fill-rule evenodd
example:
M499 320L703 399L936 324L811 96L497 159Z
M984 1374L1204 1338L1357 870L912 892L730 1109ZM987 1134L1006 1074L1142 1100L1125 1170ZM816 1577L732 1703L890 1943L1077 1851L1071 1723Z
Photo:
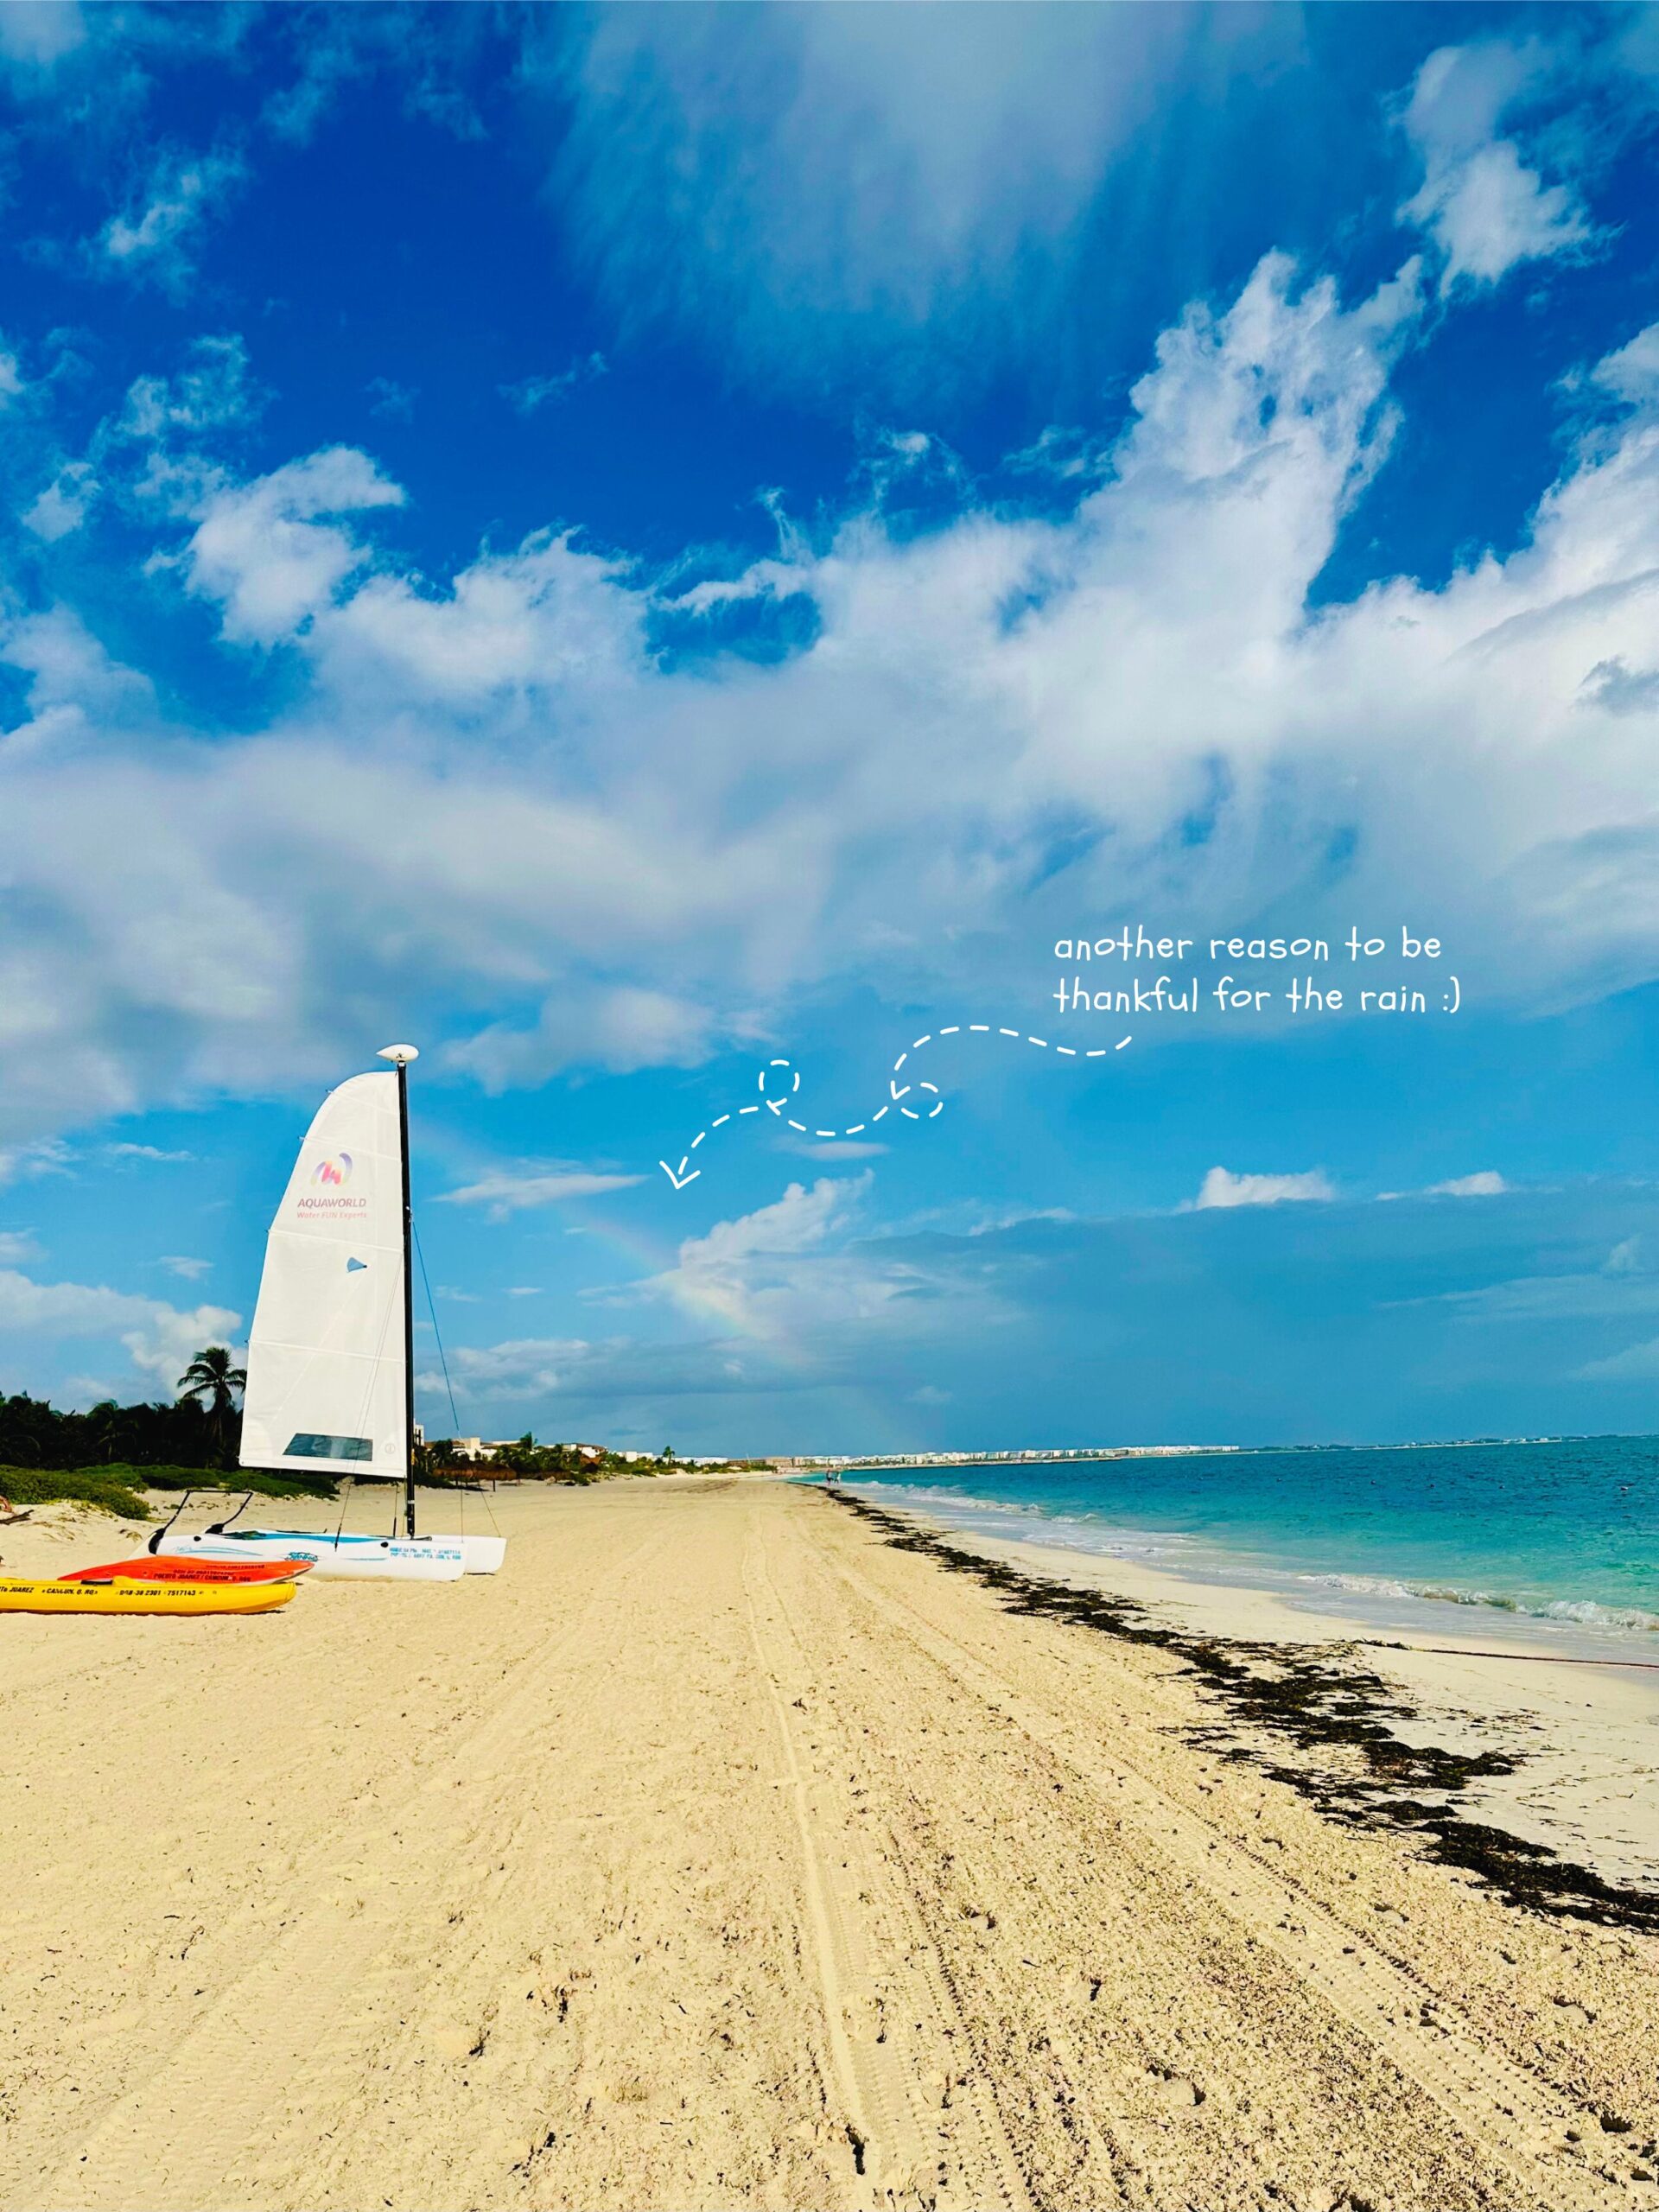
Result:
M1013 1564L779 1482L491 1506L493 1579L0 1624L0 2203L1659 2205L1617 1750L1571 1820L1626 1889L1531 1909ZM1387 1663L1400 1739L1564 1694Z

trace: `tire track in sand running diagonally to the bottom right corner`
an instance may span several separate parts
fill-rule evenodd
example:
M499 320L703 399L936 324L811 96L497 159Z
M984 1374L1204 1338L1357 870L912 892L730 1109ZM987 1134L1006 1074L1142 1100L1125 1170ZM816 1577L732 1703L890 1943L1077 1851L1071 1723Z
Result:
M1352 2028L1365 2035L1407 2079L1440 2106L1458 2132L1495 2168L1528 2188L1548 2212L1608 2212L1630 2208L1635 2159L1597 2143L1590 2168L1568 2130L1586 2146L1601 2135L1597 2115L1562 2097L1506 2057L1486 2051L1458 2022L1440 1991L1389 1960L1363 1933L1340 1922L1298 1882L1265 1865L1225 1829L1166 1796L1157 1783L1108 1754L1060 1714L1037 1705L956 1637L922 1619L905 1599L880 1590L836 1559L843 1586L898 1628L969 1697L1006 1714L1020 1732L1062 1761L1108 1820L1137 1838L1263 1949L1276 1953ZM1422 2022L1422 2006L1436 2011ZM1641 2190L1639 2201L1655 2201Z

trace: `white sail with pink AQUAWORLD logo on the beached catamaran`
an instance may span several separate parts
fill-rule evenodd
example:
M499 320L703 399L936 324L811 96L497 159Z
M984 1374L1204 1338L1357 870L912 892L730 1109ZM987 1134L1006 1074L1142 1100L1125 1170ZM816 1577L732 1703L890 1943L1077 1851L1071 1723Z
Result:
M398 1077L330 1091L265 1241L248 1338L243 1467L403 1480Z

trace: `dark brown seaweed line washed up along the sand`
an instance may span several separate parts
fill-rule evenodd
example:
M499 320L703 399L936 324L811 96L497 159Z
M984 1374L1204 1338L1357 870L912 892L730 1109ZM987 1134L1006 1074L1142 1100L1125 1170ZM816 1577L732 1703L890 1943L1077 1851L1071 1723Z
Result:
M896 1551L914 1551L956 1575L971 1575L995 1590L1009 1613L1071 1621L1170 1652L1221 1703L1230 1723L1186 1730L1188 1741L1254 1763L1329 1818L1354 1827L1396 1827L1413 1836L1431 1860L1473 1874L1506 1905L1659 1933L1659 1896L1652 1891L1608 1882L1544 1845L1464 1820L1455 1801L1469 1783L1513 1774L1520 1761L1504 1752L1464 1754L1407 1743L1387 1723L1409 1721L1413 1710L1365 1666L1358 1644L1256 1644L1172 1628L1133 1597L1024 1575L852 1491L821 1495L838 1498ZM1241 1741L1239 1728L1252 1730L1256 1741ZM1303 1763L1274 1756L1263 1739L1298 1752ZM1345 1754L1343 1765L1310 1763L1321 1750Z

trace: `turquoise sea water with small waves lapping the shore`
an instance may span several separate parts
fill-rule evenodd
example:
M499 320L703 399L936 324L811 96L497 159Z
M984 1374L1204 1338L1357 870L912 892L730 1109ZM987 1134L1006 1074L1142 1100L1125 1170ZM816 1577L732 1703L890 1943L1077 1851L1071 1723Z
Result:
M1652 1436L867 1469L847 1484L953 1528L1367 1621L1467 1635L1473 1619L1444 1608L1469 1606L1551 1639L1659 1628Z

